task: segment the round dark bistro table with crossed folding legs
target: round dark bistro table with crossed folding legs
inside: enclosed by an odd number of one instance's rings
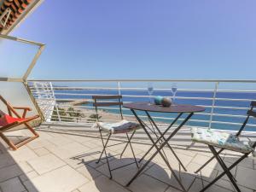
[[[156,151],[154,152],[154,154],[152,154],[152,156],[148,159],[148,161],[137,171],[137,173],[134,175],[134,177],[131,178],[131,180],[129,181],[129,183],[126,184],[126,186],[129,186],[134,181],[134,179],[136,179],[138,177],[138,175],[141,172],[143,172],[143,170],[146,168],[146,166],[148,166],[148,163],[154,159],[156,154],[160,154],[161,158],[165,161],[166,166],[169,167],[173,176],[176,178],[177,183],[179,183],[179,185],[183,189],[183,191],[186,191],[186,189],[184,189],[184,187],[183,187],[183,184],[178,179],[176,173],[173,171],[172,166],[170,165],[169,161],[166,159],[166,156],[164,155],[165,153],[163,150],[164,150],[164,147],[170,148],[172,151],[172,154],[174,154],[174,156],[178,160],[179,164],[183,167],[183,170],[186,172],[187,170],[186,170],[185,166],[183,166],[182,161],[179,160],[179,158],[177,157],[177,154],[175,154],[174,150],[172,149],[172,146],[168,142],[172,139],[172,137],[174,137],[176,135],[177,131],[179,131],[183,127],[183,125],[185,125],[185,123],[193,116],[194,113],[203,112],[203,111],[205,111],[205,108],[202,108],[199,106],[194,106],[194,105],[180,105],[180,104],[171,105],[170,107],[166,108],[166,107],[162,107],[160,105],[149,104],[148,102],[131,102],[131,103],[124,104],[123,107],[131,109],[131,112],[134,114],[137,121],[143,127],[143,130],[146,132],[148,138],[152,142],[152,146],[148,149],[147,153],[143,155],[143,158],[141,160],[139,160],[139,162],[141,162],[153,148],[156,148]],[[150,125],[147,125],[147,123],[145,123],[143,121],[143,119],[140,118],[139,115],[137,115],[136,111],[145,112],[147,114],[148,121],[149,121]],[[154,122],[154,119],[151,117],[150,112],[177,113],[177,117],[176,117],[176,119],[174,119],[172,121],[171,125],[169,125],[166,128],[166,130],[162,132],[162,131],[160,131],[160,128],[158,127],[158,125],[156,125],[156,123]],[[166,133],[172,128],[172,126],[183,115],[183,113],[188,113],[187,117],[184,118],[181,121],[181,123],[177,126],[177,128],[175,128],[172,131],[170,136],[165,137]],[[153,137],[151,136],[151,134],[149,133],[149,131],[154,133],[154,135],[156,136],[155,141],[154,141]]]

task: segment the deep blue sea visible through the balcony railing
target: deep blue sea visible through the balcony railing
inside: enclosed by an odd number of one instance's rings
[[[71,95],[61,95],[61,93],[71,94]],[[75,94],[88,94],[89,96],[77,96]],[[118,95],[118,90],[55,90],[55,97],[57,99],[91,99],[92,95]],[[149,98],[147,90],[121,90],[121,95],[123,96],[123,102],[148,102]],[[141,96],[141,97],[133,97]],[[166,90],[155,90],[153,96],[172,96],[171,91]],[[213,92],[208,91],[177,91],[177,97],[207,97],[212,98]],[[249,101],[256,100],[256,92],[217,92],[216,98],[229,98],[229,99],[245,99]],[[249,101],[215,101],[215,106],[218,107],[236,107],[236,108],[249,108]],[[191,104],[191,105],[202,105],[202,106],[212,106],[212,100],[197,100],[197,99],[182,99],[176,98],[175,103],[177,104]],[[91,107],[91,103],[84,104],[84,107]],[[119,113],[117,109],[104,109],[108,113]],[[212,108],[206,108],[204,113],[211,113]],[[124,114],[132,114],[130,110],[123,110]],[[247,109],[231,109],[231,108],[214,108],[213,113],[215,114],[230,114],[230,115],[247,115]],[[145,115],[143,112],[138,112],[139,115]],[[152,116],[158,122],[171,123],[172,119],[177,116],[176,113],[151,113]],[[182,118],[186,114],[183,114]],[[160,118],[171,118],[171,119],[160,119]],[[210,115],[195,113],[195,115],[189,120],[187,125],[209,127]],[[233,125],[233,123],[242,124],[246,117],[240,116],[218,116],[212,115],[211,128],[221,129],[221,130],[239,130],[241,125]],[[195,121],[201,120],[201,121]],[[256,131],[256,119],[249,119],[248,125],[245,129],[246,131]]]

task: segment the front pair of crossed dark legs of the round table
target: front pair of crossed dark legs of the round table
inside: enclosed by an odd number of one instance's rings
[[[168,138],[166,138],[166,141],[165,141],[164,143],[162,143],[162,144],[160,145],[160,147],[158,147],[158,146],[156,145],[156,143],[154,143],[153,138],[152,138],[152,137],[150,136],[150,134],[148,133],[148,131],[147,131],[145,125],[143,125],[142,120],[139,119],[139,117],[137,116],[137,113],[135,113],[135,111],[134,111],[133,109],[131,109],[131,112],[135,115],[135,117],[137,118],[138,122],[142,125],[143,130],[146,132],[146,134],[148,135],[149,139],[151,140],[151,142],[153,143],[153,145],[154,145],[154,147],[156,148],[157,151],[156,151],[156,152],[149,158],[149,160],[138,170],[138,172],[135,174],[134,177],[131,178],[131,180],[126,184],[126,186],[129,186],[129,185],[134,181],[134,179],[137,178],[137,176],[138,176],[141,172],[143,172],[143,170],[146,168],[146,166],[148,166],[148,163],[149,163],[151,160],[154,159],[154,157],[156,156],[156,154],[160,154],[160,156],[161,156],[162,159],[166,162],[166,165],[168,166],[168,168],[169,168],[170,171],[172,172],[172,175],[176,178],[177,183],[179,183],[179,185],[181,186],[181,188],[183,189],[183,191],[186,191],[186,189],[184,189],[184,187],[183,187],[183,184],[180,182],[180,180],[178,179],[176,173],[172,170],[172,167],[170,166],[170,164],[168,163],[168,161],[166,160],[165,156],[161,153],[160,150],[166,146],[166,143],[168,143],[168,141],[169,141],[173,136],[175,136],[175,134],[177,133],[177,131],[179,131],[179,130],[181,129],[181,127],[192,117],[192,115],[193,115],[194,113],[189,113],[188,117],[187,117],[186,119],[184,119],[183,122],[182,122],[180,125],[178,125],[178,127],[177,127],[174,131],[172,131],[172,134],[171,134]],[[165,132],[166,132],[166,131],[165,131]],[[158,140],[160,140],[160,139],[158,139]]]

